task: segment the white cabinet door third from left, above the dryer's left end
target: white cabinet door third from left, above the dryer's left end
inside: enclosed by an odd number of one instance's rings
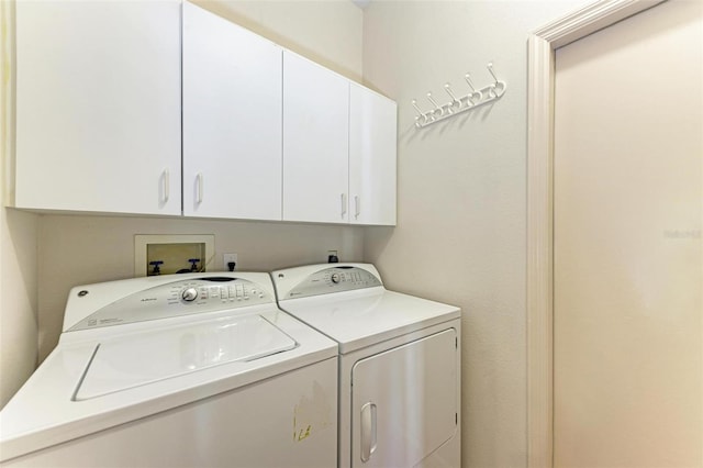
[[[283,53],[283,220],[348,221],[349,81]]]

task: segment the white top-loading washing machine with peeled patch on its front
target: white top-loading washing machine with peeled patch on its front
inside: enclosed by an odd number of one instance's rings
[[[268,274],[74,288],[54,352],[0,412],[0,461],[331,467],[337,345],[281,312]]]

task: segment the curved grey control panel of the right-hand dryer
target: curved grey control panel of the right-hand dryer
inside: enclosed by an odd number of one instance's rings
[[[380,279],[378,279],[372,272],[362,268],[345,266],[331,267],[310,275],[292,288],[287,293],[286,299],[375,288],[377,286],[383,286]]]

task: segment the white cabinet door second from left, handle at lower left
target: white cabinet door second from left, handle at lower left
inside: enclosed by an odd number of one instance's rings
[[[183,3],[183,214],[281,219],[281,53]]]

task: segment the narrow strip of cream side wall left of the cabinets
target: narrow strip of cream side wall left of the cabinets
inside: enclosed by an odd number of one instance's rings
[[[0,190],[12,174],[13,4],[0,2]],[[0,408],[34,370],[37,343],[36,242],[38,216],[0,207]]]

